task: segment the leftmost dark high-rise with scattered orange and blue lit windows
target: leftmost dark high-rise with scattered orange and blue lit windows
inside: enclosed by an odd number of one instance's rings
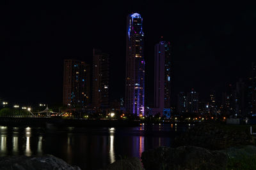
[[[90,66],[80,60],[64,60],[63,105],[86,108],[90,100]]]

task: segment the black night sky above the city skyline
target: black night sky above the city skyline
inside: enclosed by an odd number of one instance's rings
[[[0,99],[62,101],[63,59],[90,63],[110,54],[110,97],[124,96],[126,17],[138,12],[145,33],[146,103],[154,91],[154,45],[172,44],[172,95],[192,87],[207,99],[246,78],[256,56],[255,4],[192,1],[1,1]]]

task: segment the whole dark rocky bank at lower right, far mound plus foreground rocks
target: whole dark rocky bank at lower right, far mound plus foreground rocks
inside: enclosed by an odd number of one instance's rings
[[[173,148],[146,150],[139,159],[117,160],[108,170],[256,169],[256,146],[246,125],[205,123],[175,138]]]

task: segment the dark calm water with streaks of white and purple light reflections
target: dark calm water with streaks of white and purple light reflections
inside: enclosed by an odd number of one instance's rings
[[[42,129],[0,126],[0,156],[51,154],[81,169],[100,169],[120,157],[171,146],[189,126],[150,124],[125,128]]]

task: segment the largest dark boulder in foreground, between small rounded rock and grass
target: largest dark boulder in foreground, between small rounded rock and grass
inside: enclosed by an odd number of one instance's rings
[[[227,154],[196,146],[168,148],[161,146],[142,153],[146,170],[153,169],[226,169]]]

